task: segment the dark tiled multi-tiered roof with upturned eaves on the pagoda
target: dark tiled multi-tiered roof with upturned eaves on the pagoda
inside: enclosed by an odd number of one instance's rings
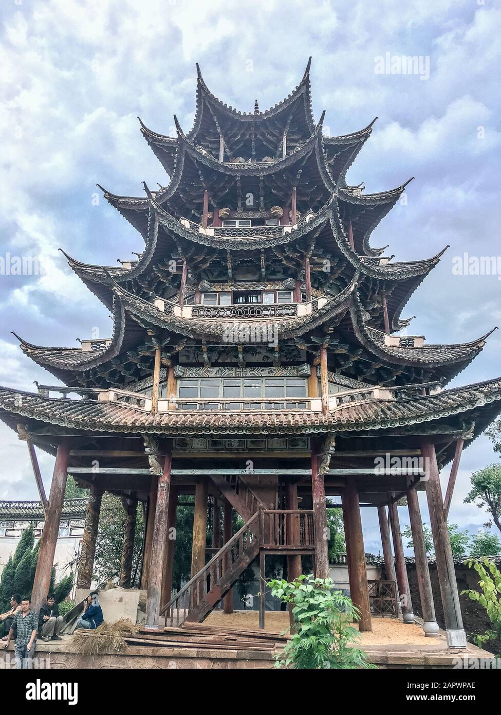
[[[197,66],[191,131],[185,134],[175,117],[174,138],[141,122],[170,181],[157,191],[145,184],[144,197],[103,190],[137,229],[144,247],[134,260],[109,267],[64,254],[111,310],[111,337],[83,341],[81,347],[42,347],[19,338],[26,355],[64,385],[83,388],[84,399],[54,400],[41,389],[39,395],[23,393],[19,401],[16,391],[0,388],[2,419],[13,426],[23,415],[68,430],[179,434],[224,433],[230,423],[252,433],[402,431],[417,423],[432,429],[455,415],[455,428],[475,423],[477,434],[499,412],[499,380],[440,391],[482,350],[487,335],[455,345],[396,335],[410,323],[402,318],[408,300],[445,249],[425,260],[397,262],[384,255],[386,247],[369,244],[408,182],[377,194],[366,194],[362,184],[347,184],[347,170],[375,120],[353,134],[325,137],[324,114],[317,123],[312,114],[309,70],[310,63],[283,102],[266,112],[256,102],[254,112],[246,114],[214,97]],[[228,216],[252,217],[260,225],[224,227],[222,217]],[[278,217],[277,225],[266,225],[272,217]],[[208,290],[270,286],[294,290],[296,300],[244,308],[193,300]],[[257,350],[240,340],[241,332],[228,330],[235,321],[263,335],[272,327],[277,344],[269,347],[263,340]],[[165,372],[179,367],[180,355],[192,365],[234,361],[244,368],[264,361],[275,368],[306,363],[314,369],[322,345],[328,350],[329,379],[345,385],[347,393],[354,391],[327,415],[314,410],[150,414],[133,400],[98,402],[92,393],[139,392],[152,376],[158,347]]]

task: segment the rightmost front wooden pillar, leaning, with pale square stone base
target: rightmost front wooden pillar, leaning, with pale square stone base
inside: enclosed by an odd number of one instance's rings
[[[444,609],[445,628],[447,631],[447,644],[455,648],[466,646],[466,633],[462,624],[460,596],[457,591],[454,559],[450,548],[449,532],[444,516],[444,503],[442,489],[440,488],[440,473],[437,464],[435,445],[423,440],[421,453],[425,460],[426,470],[426,498],[430,513],[433,544],[435,546],[435,559],[440,583],[440,595]]]

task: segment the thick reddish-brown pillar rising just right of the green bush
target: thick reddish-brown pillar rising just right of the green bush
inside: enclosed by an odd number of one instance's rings
[[[365,566],[364,534],[360,504],[353,480],[348,480],[342,493],[343,518],[348,523],[349,548],[347,548],[349,593],[354,606],[360,611],[358,629],[372,631],[370,618],[369,590],[367,588],[367,567]],[[348,541],[347,541],[348,543]]]

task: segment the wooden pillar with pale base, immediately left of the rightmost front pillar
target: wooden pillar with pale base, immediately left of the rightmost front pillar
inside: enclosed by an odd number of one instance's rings
[[[438,623],[435,617],[432,582],[425,546],[425,535],[422,529],[420,501],[415,489],[407,489],[407,506],[409,507],[410,529],[412,531],[412,546],[416,561],[417,586],[420,590],[422,629],[426,636],[438,636]]]

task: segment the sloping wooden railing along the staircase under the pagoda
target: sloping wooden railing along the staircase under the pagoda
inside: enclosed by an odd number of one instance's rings
[[[166,626],[203,620],[259,551],[259,513],[224,544],[162,611]]]

